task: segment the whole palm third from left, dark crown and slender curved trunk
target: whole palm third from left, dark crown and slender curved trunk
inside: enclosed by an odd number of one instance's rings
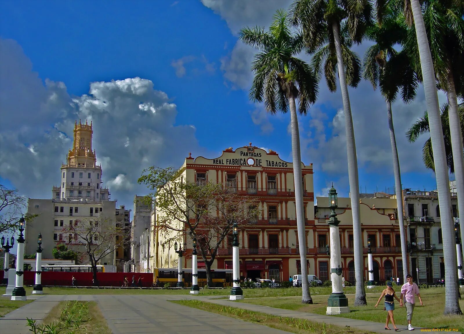
[[[406,37],[406,26],[398,20],[397,13],[385,3],[383,8],[377,8],[377,24],[369,27],[366,32],[368,39],[375,42],[364,56],[364,78],[374,87],[380,86],[382,96],[387,103],[388,129],[393,156],[393,174],[395,178],[396,203],[398,206],[398,222],[400,225],[401,258],[403,263],[403,279],[406,282],[408,274],[406,235],[404,230],[403,201],[400,196],[401,173],[400,159],[396,146],[395,130],[393,128],[392,102],[401,89],[403,101],[410,102],[416,96],[418,81],[410,60],[405,51],[398,52],[393,46],[400,44]]]

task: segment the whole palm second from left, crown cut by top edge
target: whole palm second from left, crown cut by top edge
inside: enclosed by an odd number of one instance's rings
[[[331,91],[336,90],[336,68],[342,91],[348,155],[348,179],[353,214],[354,270],[356,295],[354,305],[367,305],[364,289],[364,259],[362,255],[361,219],[359,214],[359,180],[353,118],[348,96],[348,84],[356,87],[361,80],[361,61],[349,50],[351,42],[360,43],[371,21],[370,1],[296,0],[291,5],[293,24],[303,32],[308,53],[314,53],[314,64],[324,74]]]

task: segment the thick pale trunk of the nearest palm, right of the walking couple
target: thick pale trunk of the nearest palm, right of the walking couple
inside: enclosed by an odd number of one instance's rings
[[[451,217],[450,182],[445,156],[445,142],[438,105],[435,71],[430,53],[424,18],[419,0],[411,0],[412,17],[419,47],[420,65],[424,80],[425,102],[429,116],[430,137],[432,139],[433,162],[437,179],[438,202],[440,205],[441,230],[443,235],[443,256],[445,257],[445,310],[444,314],[462,314],[458,302],[458,275],[454,224]]]

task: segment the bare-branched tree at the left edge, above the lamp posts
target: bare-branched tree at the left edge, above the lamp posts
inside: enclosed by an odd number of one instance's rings
[[[26,209],[27,198],[19,195],[18,189],[9,189],[0,184],[0,233],[18,229],[18,221]],[[26,214],[28,222],[37,215]]]

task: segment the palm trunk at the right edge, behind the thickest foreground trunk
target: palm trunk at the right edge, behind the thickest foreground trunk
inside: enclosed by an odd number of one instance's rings
[[[458,98],[454,85],[453,71],[448,71],[448,119],[450,122],[451,148],[453,152],[454,176],[456,178],[456,189],[458,191],[458,211],[459,217],[464,217],[464,157],[463,157],[463,136],[461,133],[461,122],[458,113]],[[464,240],[463,221],[459,220],[461,230],[461,240]]]

